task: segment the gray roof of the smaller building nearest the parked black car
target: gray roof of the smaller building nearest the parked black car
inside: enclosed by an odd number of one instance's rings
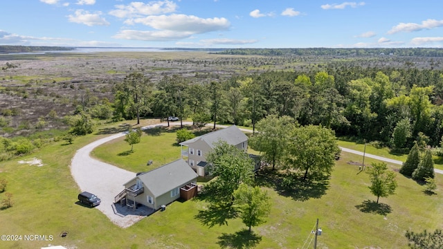
[[[161,196],[176,187],[183,187],[197,176],[185,160],[179,159],[137,177],[154,196]]]

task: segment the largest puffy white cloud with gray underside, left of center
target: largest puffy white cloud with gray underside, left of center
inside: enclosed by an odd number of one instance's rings
[[[159,15],[131,19],[130,22],[144,24],[156,30],[171,30],[192,34],[208,33],[216,30],[226,30],[230,23],[221,17],[200,18],[193,15]]]

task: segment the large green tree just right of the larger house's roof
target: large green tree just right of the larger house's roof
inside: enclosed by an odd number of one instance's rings
[[[258,132],[251,137],[249,145],[262,153],[262,158],[271,163],[272,169],[284,158],[294,124],[295,121],[288,116],[278,118],[273,115],[257,122]]]

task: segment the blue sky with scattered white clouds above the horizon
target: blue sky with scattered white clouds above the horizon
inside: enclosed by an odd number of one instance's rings
[[[442,0],[8,0],[0,44],[443,48]]]

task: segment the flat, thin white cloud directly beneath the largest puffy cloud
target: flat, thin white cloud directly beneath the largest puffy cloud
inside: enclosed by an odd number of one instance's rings
[[[192,33],[190,32],[175,32],[171,30],[159,30],[159,31],[121,30],[116,35],[114,35],[114,38],[162,42],[174,39],[188,38],[191,35]]]

